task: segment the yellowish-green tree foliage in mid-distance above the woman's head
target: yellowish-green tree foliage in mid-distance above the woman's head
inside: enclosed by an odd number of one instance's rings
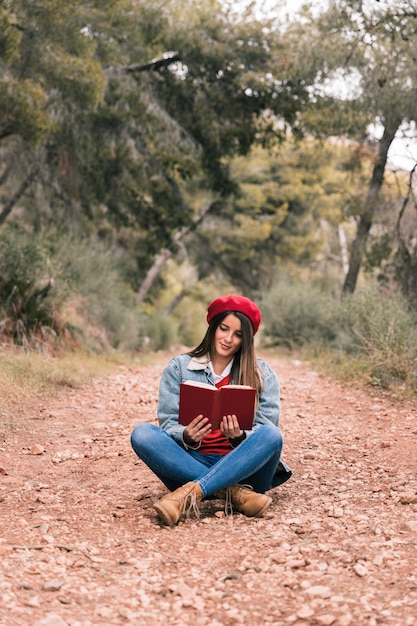
[[[350,233],[343,209],[353,194],[364,193],[361,173],[345,170],[350,154],[342,142],[309,139],[233,159],[241,191],[196,233],[200,275],[215,267],[239,289],[256,293],[273,284],[277,267],[294,264],[300,276],[305,269],[342,282],[338,226]]]

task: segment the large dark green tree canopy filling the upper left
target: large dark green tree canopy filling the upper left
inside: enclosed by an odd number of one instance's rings
[[[204,209],[186,184],[229,196],[228,159],[269,130],[264,112],[291,124],[307,99],[252,18],[215,1],[5,2],[0,221],[31,184],[34,228],[116,237],[139,288]]]

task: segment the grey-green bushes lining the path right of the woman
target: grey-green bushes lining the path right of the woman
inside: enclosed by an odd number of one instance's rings
[[[417,393],[417,318],[399,294],[363,288],[340,298],[281,281],[261,308],[265,345],[307,346],[324,352],[329,369],[349,368],[348,378],[360,372],[373,385]]]

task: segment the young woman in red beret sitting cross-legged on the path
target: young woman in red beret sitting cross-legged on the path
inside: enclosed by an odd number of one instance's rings
[[[279,382],[262,359],[253,337],[261,322],[258,306],[243,296],[217,298],[208,307],[208,329],[187,354],[174,357],[160,381],[158,420],[139,424],[131,436],[134,451],[170,490],[154,505],[169,526],[198,502],[216,497],[225,508],[259,517],[271,504],[265,494],[291,476],[280,461],[282,436]],[[180,383],[186,380],[221,387],[233,383],[257,389],[251,430],[241,430],[236,415],[225,415],[212,430],[207,417],[192,416],[188,426],[178,423]]]

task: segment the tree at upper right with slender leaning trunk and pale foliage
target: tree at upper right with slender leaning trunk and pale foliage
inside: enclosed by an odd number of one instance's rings
[[[304,116],[306,127],[324,136],[345,134],[373,153],[366,196],[352,212],[357,231],[343,287],[351,293],[375,214],[383,205],[389,149],[394,138],[417,120],[417,4],[334,0],[318,18],[304,15],[290,31],[295,28],[302,31],[303,41],[311,43],[316,63],[321,63],[313,95],[317,106]],[[377,132],[371,134],[371,127]],[[405,260],[403,255],[401,263]],[[403,287],[407,291],[410,281]],[[417,297],[417,281],[412,290]]]

